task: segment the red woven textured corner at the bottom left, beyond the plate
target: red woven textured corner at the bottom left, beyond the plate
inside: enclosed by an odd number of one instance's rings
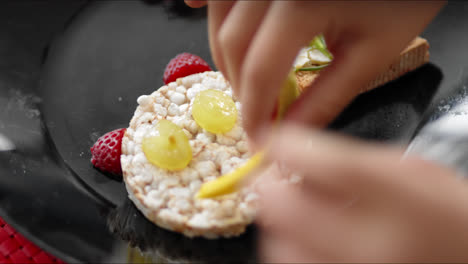
[[[0,218],[0,263],[64,263],[43,251]]]

